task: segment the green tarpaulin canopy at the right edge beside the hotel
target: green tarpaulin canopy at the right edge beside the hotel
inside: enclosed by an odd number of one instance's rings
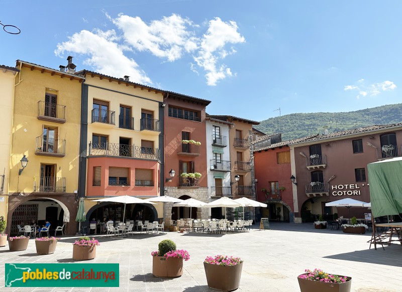
[[[373,217],[402,213],[402,158],[367,165]]]

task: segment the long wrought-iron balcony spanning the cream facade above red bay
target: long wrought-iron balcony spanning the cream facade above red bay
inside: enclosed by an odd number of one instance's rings
[[[88,156],[120,156],[160,161],[160,150],[118,143],[89,143]]]

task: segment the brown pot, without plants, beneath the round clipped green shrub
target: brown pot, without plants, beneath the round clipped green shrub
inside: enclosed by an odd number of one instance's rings
[[[159,278],[177,278],[183,274],[183,259],[177,257],[152,257],[152,274]]]

